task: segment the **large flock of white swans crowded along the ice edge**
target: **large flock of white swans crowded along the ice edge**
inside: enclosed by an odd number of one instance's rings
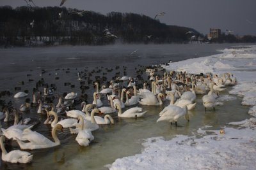
[[[159,114],[156,122],[167,121],[175,123],[179,118],[184,117],[189,121],[188,110],[196,107],[196,96],[202,95],[202,103],[205,111],[216,106],[216,98],[226,89],[226,86],[236,85],[236,77],[231,73],[217,74],[189,74],[182,72],[162,71],[163,75],[157,69],[147,69],[148,80],[143,84],[143,88],[138,89],[136,79],[128,76],[118,77],[110,81],[110,85],[102,86],[99,90],[99,83],[95,82],[95,92],[93,92],[92,103],[81,103],[82,109],[70,107],[74,103],[78,94],[70,92],[66,96],[60,96],[58,103],[46,103],[41,97],[33,93],[33,101],[16,108],[4,108],[1,119],[4,122],[14,121],[13,125],[7,129],[1,128],[0,144],[2,150],[2,160],[12,163],[28,163],[33,159],[29,152],[13,150],[6,152],[4,148],[4,139],[12,139],[17,142],[22,150],[36,150],[42,148],[51,148],[61,144],[56,135],[56,131],[68,129],[70,134],[77,134],[76,141],[81,146],[88,146],[93,141],[93,131],[99,129],[99,125],[114,124],[113,116],[121,118],[140,118],[147,114],[140,105],[163,106],[166,100],[170,104],[166,106]],[[81,81],[81,76],[78,81]],[[150,84],[148,83],[150,82]],[[121,85],[127,83],[127,87]],[[44,89],[44,95],[48,96],[49,90]],[[18,92],[13,97],[26,97],[26,92]],[[125,99],[124,99],[125,97]],[[102,102],[104,100],[104,102]],[[108,106],[104,103],[109,103]],[[40,122],[29,123],[29,120],[19,122],[19,111],[29,110],[33,104],[38,107],[38,114],[45,114],[47,118],[45,125],[51,126],[52,139],[46,138],[39,132],[33,131],[33,127]],[[129,108],[128,108],[129,107]],[[12,113],[10,113],[12,112]],[[14,118],[10,118],[10,115]],[[53,119],[51,118],[53,117]]]

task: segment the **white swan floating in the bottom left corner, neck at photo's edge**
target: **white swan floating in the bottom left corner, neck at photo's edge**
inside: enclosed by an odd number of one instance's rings
[[[21,150],[12,150],[11,152],[7,152],[4,148],[4,136],[0,137],[0,145],[2,150],[2,160],[4,162],[11,163],[22,163],[26,164],[32,161],[33,155],[29,152],[21,151]]]

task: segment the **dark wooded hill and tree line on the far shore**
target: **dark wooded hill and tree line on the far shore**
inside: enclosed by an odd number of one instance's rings
[[[102,15],[65,7],[0,7],[1,46],[188,43],[199,37],[207,41],[194,29],[166,25],[135,13]],[[238,40],[231,37],[228,41]],[[255,42],[255,37],[244,37],[243,41]]]

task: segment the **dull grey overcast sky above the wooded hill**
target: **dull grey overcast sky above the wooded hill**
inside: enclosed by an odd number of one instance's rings
[[[29,1],[29,0],[27,0]],[[59,6],[61,0],[33,0],[36,6]],[[0,0],[0,6],[24,6],[24,0]],[[210,27],[227,29],[233,34],[256,36],[256,0],[67,0],[66,8],[89,10],[106,15],[111,11],[138,13],[154,18],[159,12],[160,22],[191,27],[203,34]]]

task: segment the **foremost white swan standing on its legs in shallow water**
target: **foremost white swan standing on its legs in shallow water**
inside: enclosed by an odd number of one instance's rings
[[[169,106],[168,109],[163,111],[160,117],[157,119],[156,122],[161,121],[168,121],[168,122],[175,122],[175,126],[177,127],[177,121],[180,117],[185,117],[186,120],[189,121],[188,109],[187,106],[180,108],[179,106]]]

